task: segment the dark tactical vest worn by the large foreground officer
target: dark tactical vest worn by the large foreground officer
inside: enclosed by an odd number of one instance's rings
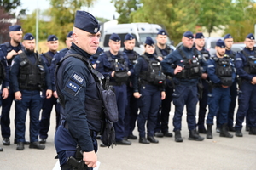
[[[84,105],[85,105],[86,116],[89,119],[102,120],[102,117],[103,117],[102,79],[104,79],[104,77],[101,73],[99,73],[95,69],[92,69],[92,66],[90,65],[90,61],[88,59],[82,57],[79,54],[67,54],[67,56],[65,56],[65,58],[61,59],[61,61],[57,64],[56,71],[55,71],[55,77],[58,77],[57,74],[58,74],[59,68],[60,68],[61,64],[63,63],[63,61],[71,56],[82,60],[84,62],[84,64],[87,65],[87,67],[91,73],[90,77],[93,79],[93,81],[96,82],[96,86],[97,86],[96,93],[97,93],[98,99],[91,99],[91,98],[85,99]],[[61,75],[61,77],[62,77],[62,75]],[[64,95],[61,93],[60,84],[57,82],[56,79],[55,79],[55,86],[56,86],[56,91],[58,94],[60,104],[65,109],[65,98],[64,98]],[[63,116],[64,118],[66,117],[65,115],[61,115],[61,116]]]

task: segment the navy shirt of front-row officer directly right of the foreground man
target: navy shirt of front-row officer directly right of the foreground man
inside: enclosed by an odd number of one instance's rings
[[[110,51],[109,51],[110,53]],[[120,52],[117,55],[111,54],[111,58],[113,60],[120,58]],[[133,65],[131,65],[127,55],[125,53],[122,53],[123,58],[125,59],[126,63],[126,70],[131,72],[131,75],[133,74]],[[113,62],[113,61],[112,61]],[[110,77],[110,81],[114,81],[114,78],[111,77],[112,71],[114,71],[112,63],[108,60],[108,56],[105,53],[102,53],[99,58],[96,61],[96,70],[101,72],[104,77]]]

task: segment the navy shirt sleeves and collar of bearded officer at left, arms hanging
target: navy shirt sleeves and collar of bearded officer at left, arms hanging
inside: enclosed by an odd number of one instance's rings
[[[26,53],[26,51],[25,51]],[[30,60],[30,62],[34,65],[36,62],[36,58],[35,58],[35,54],[27,54],[26,53],[27,58]],[[20,55],[16,55],[15,59],[12,62],[11,65],[11,71],[10,71],[10,82],[12,85],[12,88],[14,90],[14,92],[20,91],[19,88],[19,81],[18,81],[18,77],[19,77],[19,71],[20,71]],[[50,84],[50,78],[49,78],[49,73],[47,71],[47,66],[44,63],[44,60],[42,59],[42,65],[44,66],[44,70],[45,70],[45,84],[46,84],[46,89],[50,89],[51,90],[51,84]]]

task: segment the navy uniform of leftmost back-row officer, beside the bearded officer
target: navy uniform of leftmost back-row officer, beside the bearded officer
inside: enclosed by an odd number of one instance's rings
[[[11,51],[11,50],[15,50],[15,52],[19,52],[20,50],[23,50],[24,47],[21,45],[21,43],[17,46],[17,47],[12,47],[9,43],[9,47],[6,46],[6,44],[1,44],[0,45],[0,59],[3,60],[4,58],[6,58],[7,54]],[[10,84],[10,80],[9,80],[9,68],[10,65],[12,63],[12,59],[8,60],[8,66],[6,68],[6,73],[7,73],[7,79],[5,82],[5,85],[2,86],[2,90],[3,88],[8,87]],[[13,88],[10,86],[9,87],[9,95],[7,99],[3,99],[2,101],[2,115],[1,115],[1,131],[2,131],[2,137],[3,138],[9,138],[10,137],[10,120],[9,120],[9,111],[10,108],[12,106],[13,100],[15,99],[15,94],[13,91]],[[16,120],[15,120],[15,124],[16,124]]]

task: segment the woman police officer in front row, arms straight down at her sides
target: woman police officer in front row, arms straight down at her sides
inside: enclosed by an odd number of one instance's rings
[[[139,143],[157,144],[159,141],[154,139],[154,129],[157,123],[157,114],[160,108],[161,99],[165,99],[166,77],[161,73],[160,60],[154,55],[154,41],[147,37],[145,41],[145,53],[137,59],[134,68],[133,90],[134,97],[139,99],[140,113],[137,117],[137,127],[139,131]],[[154,62],[153,62],[154,61]],[[156,66],[158,70],[152,70]],[[155,67],[154,67],[155,68]],[[154,72],[153,72],[154,71]],[[157,80],[156,77],[164,76]],[[147,139],[145,125],[147,121]]]

